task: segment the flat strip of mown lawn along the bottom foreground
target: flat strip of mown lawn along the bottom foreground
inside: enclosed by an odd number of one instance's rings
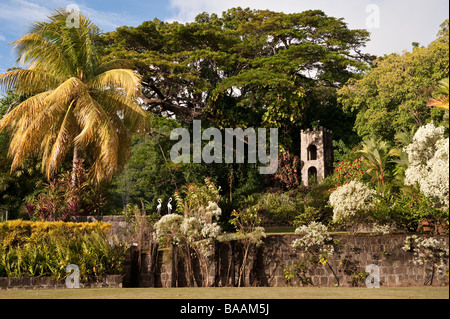
[[[448,287],[80,288],[0,290],[0,299],[449,299]]]

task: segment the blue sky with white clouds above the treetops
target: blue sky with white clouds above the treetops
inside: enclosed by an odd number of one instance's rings
[[[428,45],[449,16],[448,0],[0,0],[0,73],[15,65],[10,42],[54,9],[73,4],[104,32],[154,18],[185,23],[202,12],[221,15],[238,6],[284,13],[320,9],[344,18],[351,29],[367,29],[371,40],[363,51],[378,56],[411,50],[412,42]]]

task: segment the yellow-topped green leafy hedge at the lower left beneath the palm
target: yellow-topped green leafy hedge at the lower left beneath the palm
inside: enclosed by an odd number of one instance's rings
[[[84,282],[123,270],[126,247],[108,237],[106,223],[31,222],[0,226],[0,277],[50,276],[61,280],[69,264]]]

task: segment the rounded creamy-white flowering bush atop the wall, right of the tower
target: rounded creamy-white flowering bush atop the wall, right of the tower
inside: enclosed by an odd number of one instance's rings
[[[333,221],[348,220],[357,213],[370,211],[375,203],[376,192],[359,181],[350,181],[339,186],[328,200],[333,207]]]

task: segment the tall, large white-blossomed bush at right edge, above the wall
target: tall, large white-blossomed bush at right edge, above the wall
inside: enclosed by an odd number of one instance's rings
[[[443,126],[432,123],[420,127],[405,148],[409,166],[405,184],[418,185],[420,192],[435,204],[449,208],[449,139]]]

